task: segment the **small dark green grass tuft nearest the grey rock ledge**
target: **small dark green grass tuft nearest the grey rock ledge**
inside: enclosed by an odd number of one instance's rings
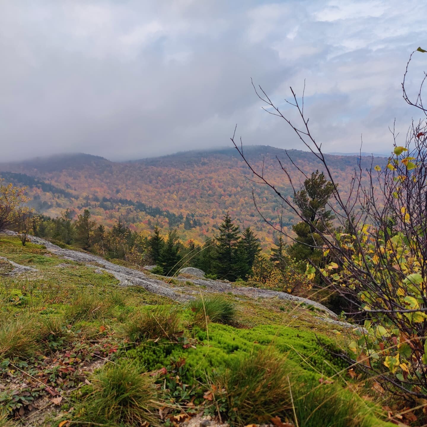
[[[198,298],[190,301],[188,307],[196,314],[197,320],[202,320],[202,323],[206,317],[211,322],[229,325],[236,317],[234,304],[231,301],[227,301],[222,295]],[[200,322],[197,323],[199,324]]]

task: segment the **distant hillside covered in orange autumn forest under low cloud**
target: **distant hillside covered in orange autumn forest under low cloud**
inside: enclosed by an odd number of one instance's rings
[[[285,168],[290,159],[285,150],[270,146],[250,146],[246,155],[280,192],[292,196],[292,189],[278,159]],[[288,151],[290,158],[305,173],[322,165],[315,156],[299,150]],[[277,158],[276,158],[277,156]],[[326,155],[333,178],[345,194],[351,183],[356,156]],[[362,157],[362,167],[385,164],[385,158]],[[272,191],[255,183],[235,149],[181,152],[132,162],[112,162],[99,156],[69,154],[0,164],[0,177],[15,185],[28,186],[32,206],[40,213],[57,217],[70,209],[76,217],[85,209],[92,218],[107,226],[121,219],[136,231],[152,230],[156,224],[166,233],[177,228],[183,240],[202,243],[204,236],[216,232],[228,210],[243,228],[257,231],[264,248],[273,243],[273,231],[263,226],[254,207],[252,188],[268,219],[278,223],[280,205]],[[295,182],[299,187],[298,181]],[[295,222],[284,212],[286,228]]]

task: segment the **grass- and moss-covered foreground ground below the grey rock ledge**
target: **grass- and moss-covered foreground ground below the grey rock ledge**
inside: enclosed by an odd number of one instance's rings
[[[178,305],[141,287],[119,287],[96,267],[66,261],[58,268],[64,260],[45,253],[0,237],[0,256],[38,270],[0,276],[0,377],[29,383],[20,367],[63,395],[78,387],[63,420],[158,424],[167,421],[158,419],[158,404],[167,402],[168,416],[202,408],[236,425],[273,415],[294,422],[294,409],[300,427],[319,420],[325,427],[383,425],[376,407],[346,389],[340,377],[347,366],[328,351],[339,352],[351,331],[336,335],[318,313],[233,295]],[[83,371],[94,360],[110,362],[88,377]],[[90,384],[79,388],[85,379]],[[46,395],[41,389],[35,381],[23,390]],[[204,398],[209,392],[213,401]],[[3,421],[0,427],[9,425]]]

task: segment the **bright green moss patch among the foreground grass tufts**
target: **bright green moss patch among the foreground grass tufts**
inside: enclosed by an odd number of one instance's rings
[[[201,379],[205,372],[217,369],[226,360],[249,354],[254,348],[271,345],[280,353],[287,354],[289,363],[300,366],[304,371],[317,375],[333,376],[345,364],[333,358],[328,347],[334,347],[332,340],[310,332],[299,332],[284,326],[262,325],[253,329],[237,329],[228,325],[210,324],[208,332],[194,330],[196,338],[202,342],[196,348],[183,349],[174,345],[140,345],[127,352],[146,365],[148,370],[167,366],[171,359],[183,358],[191,367],[193,378]],[[339,349],[335,348],[336,351]]]

